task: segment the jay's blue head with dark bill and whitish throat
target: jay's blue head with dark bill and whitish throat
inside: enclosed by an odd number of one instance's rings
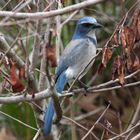
[[[78,20],[77,26],[73,35],[73,39],[80,39],[86,36],[95,37],[95,30],[103,27],[93,17],[83,17]]]

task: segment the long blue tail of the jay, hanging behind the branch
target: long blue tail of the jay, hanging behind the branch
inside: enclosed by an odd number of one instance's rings
[[[65,75],[65,72],[63,72],[58,77],[57,82],[55,84],[56,91],[58,93],[62,93],[67,82],[68,79]],[[44,117],[44,135],[46,136],[49,135],[51,132],[54,114],[55,114],[55,109],[53,105],[53,100],[50,99],[48,103],[48,107],[45,109],[45,117]]]

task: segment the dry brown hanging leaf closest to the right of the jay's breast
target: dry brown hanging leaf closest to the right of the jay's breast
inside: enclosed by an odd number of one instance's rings
[[[103,55],[102,55],[102,64],[104,67],[106,67],[107,63],[112,57],[112,49],[108,47],[104,47],[103,50]]]

